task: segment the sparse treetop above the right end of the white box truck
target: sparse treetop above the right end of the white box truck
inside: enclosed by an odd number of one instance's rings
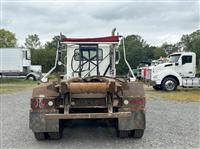
[[[39,36],[37,34],[28,35],[28,37],[25,39],[25,46],[28,49],[40,49],[41,43]]]

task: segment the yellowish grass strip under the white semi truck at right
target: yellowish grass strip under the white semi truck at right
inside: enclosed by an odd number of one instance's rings
[[[200,88],[178,88],[173,92],[155,91],[152,87],[145,86],[147,99],[165,99],[184,102],[200,101]]]

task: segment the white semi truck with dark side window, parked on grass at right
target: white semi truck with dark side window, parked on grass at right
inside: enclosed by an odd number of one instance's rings
[[[196,54],[173,53],[169,55],[168,62],[148,67],[145,79],[155,90],[174,91],[177,86],[200,87],[200,77],[196,75]]]

